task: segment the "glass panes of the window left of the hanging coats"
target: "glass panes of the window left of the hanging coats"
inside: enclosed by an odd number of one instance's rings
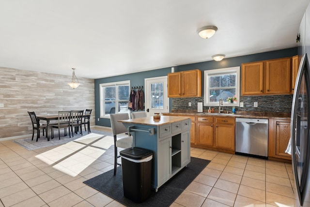
[[[129,85],[114,85],[104,87],[105,115],[128,113]]]

